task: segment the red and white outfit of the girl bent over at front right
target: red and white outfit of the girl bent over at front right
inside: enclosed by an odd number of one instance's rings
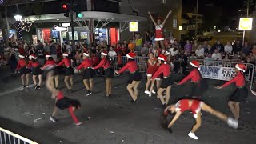
[[[190,101],[192,102],[191,106],[189,103]],[[175,107],[176,107],[176,111],[181,111],[182,113],[186,110],[190,110],[195,117],[195,114],[197,114],[201,110],[201,105],[202,105],[202,102],[198,100],[182,99],[176,103]]]

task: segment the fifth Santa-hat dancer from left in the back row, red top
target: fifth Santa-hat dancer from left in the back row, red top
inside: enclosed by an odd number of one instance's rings
[[[86,96],[92,94],[94,82],[93,78],[95,77],[95,71],[93,69],[93,62],[90,60],[90,55],[87,53],[82,54],[84,61],[78,66],[77,70],[84,69],[83,73],[83,84],[86,86]]]

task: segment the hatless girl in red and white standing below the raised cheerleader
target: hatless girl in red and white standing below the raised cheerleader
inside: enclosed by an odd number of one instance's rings
[[[145,94],[149,94],[149,96],[151,97],[151,94],[155,94],[156,92],[154,91],[154,79],[152,78],[152,75],[158,70],[158,66],[160,66],[158,64],[158,59],[154,58],[154,55],[152,53],[148,54],[149,55],[149,59],[147,60],[147,70],[146,70],[146,88],[145,88]],[[151,83],[151,86],[150,86]],[[150,91],[148,90],[150,86]]]

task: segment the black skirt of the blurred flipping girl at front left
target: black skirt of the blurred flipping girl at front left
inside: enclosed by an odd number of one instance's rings
[[[69,108],[70,106],[73,106],[75,107],[76,109],[80,108],[81,107],[81,103],[76,100],[76,99],[70,99],[70,98],[62,98],[62,99],[59,99],[57,102],[56,102],[56,106],[61,109],[61,110],[64,110],[64,109],[67,109]]]

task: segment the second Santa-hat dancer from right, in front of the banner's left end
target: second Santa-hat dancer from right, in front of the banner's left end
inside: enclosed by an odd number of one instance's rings
[[[190,93],[190,97],[192,98],[200,98],[202,94],[207,90],[208,85],[204,78],[202,78],[202,74],[200,74],[199,70],[199,62],[193,60],[190,62],[190,65],[194,67],[190,74],[182,79],[181,82],[178,82],[178,86],[184,84],[186,81],[191,79],[192,83],[192,92]]]

